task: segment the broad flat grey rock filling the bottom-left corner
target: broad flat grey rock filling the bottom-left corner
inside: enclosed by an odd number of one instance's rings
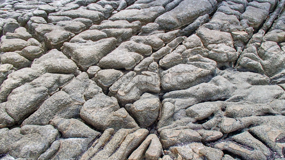
[[[1,153],[9,152],[13,157],[36,159],[52,142],[59,132],[51,125],[26,125],[21,128],[1,129]]]

